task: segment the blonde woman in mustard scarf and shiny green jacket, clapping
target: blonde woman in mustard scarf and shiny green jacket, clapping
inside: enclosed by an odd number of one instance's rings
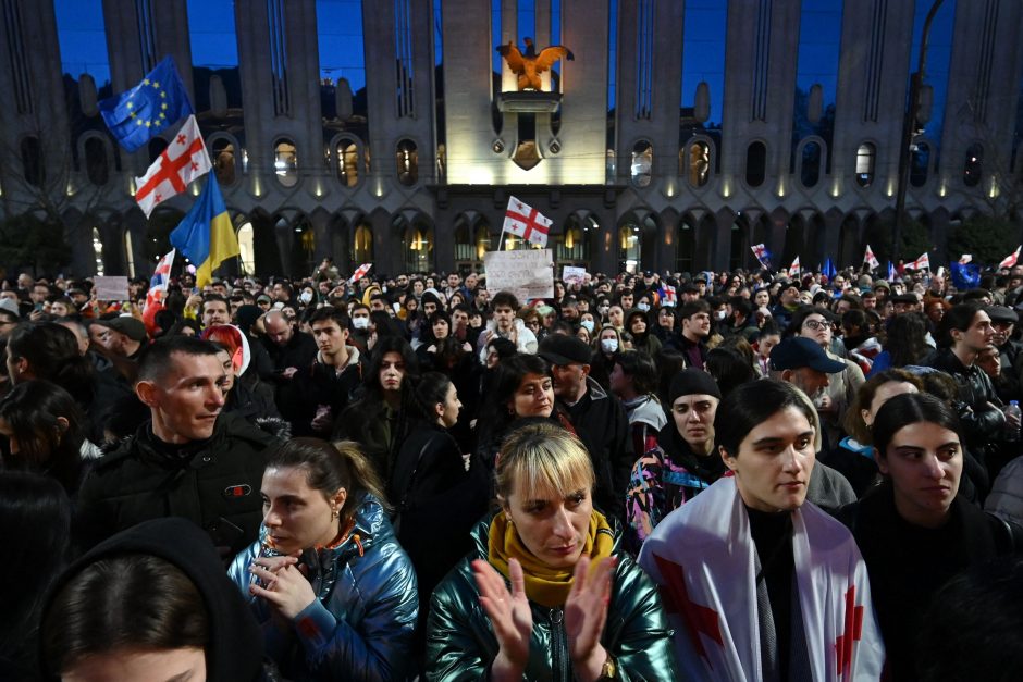
[[[579,441],[523,420],[495,476],[502,509],[433,593],[427,678],[678,679],[661,598],[593,509]]]

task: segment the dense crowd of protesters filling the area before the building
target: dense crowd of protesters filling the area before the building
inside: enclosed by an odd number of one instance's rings
[[[1023,266],[147,288],[0,290],[2,680],[1023,670]]]

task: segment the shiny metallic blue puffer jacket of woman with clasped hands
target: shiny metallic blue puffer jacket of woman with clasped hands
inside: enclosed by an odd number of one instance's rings
[[[227,571],[246,596],[248,567],[261,553],[274,554],[254,543]],[[405,680],[419,610],[416,572],[380,501],[368,495],[346,538],[332,548],[306,550],[301,561],[317,598],[298,613],[287,636],[271,622],[268,605],[249,597],[267,653],[282,673],[296,681]]]

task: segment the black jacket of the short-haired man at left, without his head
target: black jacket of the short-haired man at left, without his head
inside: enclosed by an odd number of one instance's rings
[[[160,442],[146,422],[93,467],[75,531],[89,547],[149,519],[182,517],[237,551],[257,536],[266,455],[278,443],[239,414],[222,413],[213,435],[180,447]]]

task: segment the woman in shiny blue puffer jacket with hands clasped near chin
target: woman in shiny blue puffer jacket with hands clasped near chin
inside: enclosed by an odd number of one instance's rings
[[[406,680],[416,574],[358,446],[295,438],[263,474],[259,542],[231,579],[289,680]]]

